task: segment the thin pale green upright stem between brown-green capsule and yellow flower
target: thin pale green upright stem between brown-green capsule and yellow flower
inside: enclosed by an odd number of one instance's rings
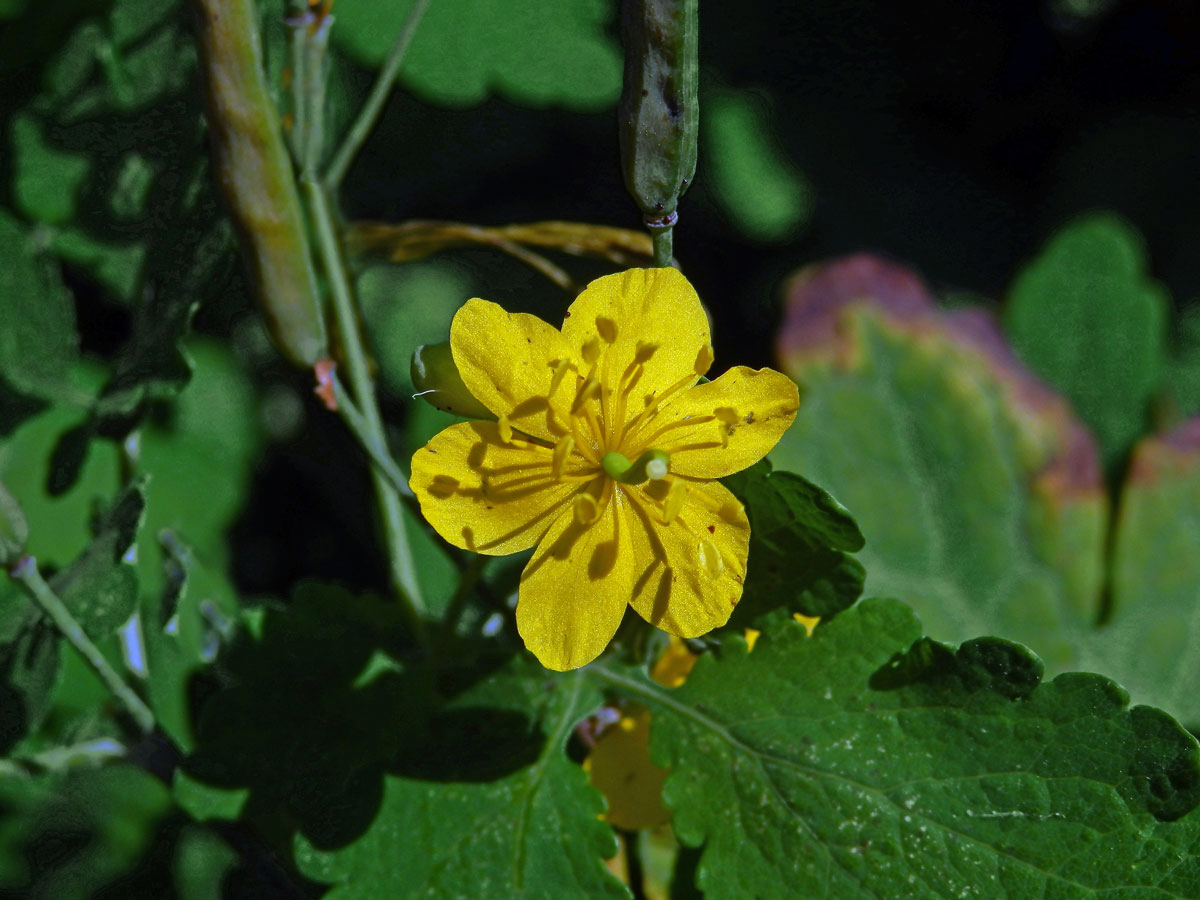
[[[362,347],[362,340],[359,335],[354,298],[350,294],[349,280],[346,276],[346,266],[342,263],[341,246],[334,232],[334,215],[330,209],[329,197],[319,184],[310,179],[301,179],[300,186],[307,200],[308,211],[312,215],[317,248],[334,300],[334,313],[337,317],[338,330],[342,335],[342,347],[346,354],[350,390],[354,392],[354,400],[358,403],[359,410],[361,410],[361,427],[370,439],[365,445],[368,448],[383,448],[386,445],[383,419],[379,415],[379,406],[376,401],[371,370],[367,367],[366,350]],[[383,514],[392,584],[400,595],[401,606],[409,620],[409,625],[413,628],[414,635],[424,643],[425,628],[421,620],[424,604],[421,601],[420,584],[416,581],[413,551],[408,546],[408,538],[404,534],[404,512],[401,506],[400,494],[378,468],[372,467],[371,479],[374,482],[379,510]]]

